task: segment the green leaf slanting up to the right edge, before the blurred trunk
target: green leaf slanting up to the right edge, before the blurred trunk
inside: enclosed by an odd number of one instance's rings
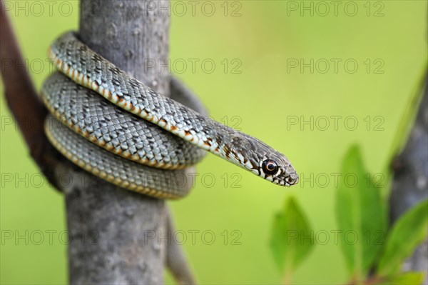
[[[394,224],[377,266],[379,276],[399,271],[400,265],[428,234],[428,199],[414,206]]]

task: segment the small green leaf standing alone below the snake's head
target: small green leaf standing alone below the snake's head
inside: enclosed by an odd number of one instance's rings
[[[290,197],[275,216],[270,240],[270,249],[280,271],[290,274],[310,253],[313,244],[314,234],[305,214]]]

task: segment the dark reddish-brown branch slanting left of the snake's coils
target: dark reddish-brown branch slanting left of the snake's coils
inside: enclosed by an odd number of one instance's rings
[[[49,144],[44,134],[47,114],[27,72],[9,17],[0,1],[0,58],[1,78],[4,82],[6,103],[29,146],[30,154],[52,184],[53,170],[61,156]]]

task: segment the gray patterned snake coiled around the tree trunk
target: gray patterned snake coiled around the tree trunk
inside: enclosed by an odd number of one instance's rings
[[[75,31],[59,36],[48,54],[57,71],[40,92],[49,110],[46,136],[91,174],[141,194],[178,199],[192,188],[193,166],[209,152],[273,184],[297,184],[285,155],[211,119],[173,76],[171,96],[158,94]]]

